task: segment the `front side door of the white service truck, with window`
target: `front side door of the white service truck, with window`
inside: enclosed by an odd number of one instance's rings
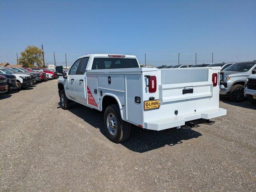
[[[67,83],[68,86],[65,86],[65,92],[68,98],[72,100],[76,100],[75,97],[75,82],[77,81],[77,69],[79,67],[79,62],[81,59],[78,59],[75,61],[75,63],[72,65],[72,67],[69,70],[68,76],[67,76]]]

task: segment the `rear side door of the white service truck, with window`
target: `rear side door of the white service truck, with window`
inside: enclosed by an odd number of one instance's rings
[[[90,57],[81,59],[75,79],[75,98],[79,102],[86,103],[86,75],[85,70]]]

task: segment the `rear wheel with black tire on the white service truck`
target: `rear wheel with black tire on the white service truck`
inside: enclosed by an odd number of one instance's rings
[[[114,131],[110,131],[112,127],[112,120],[109,121],[108,117],[111,118],[111,115],[113,114],[113,119],[115,124],[115,128],[113,129]],[[110,128],[109,125],[111,124]],[[117,125],[117,127],[116,127]],[[122,120],[119,106],[118,105],[110,105],[106,108],[105,113],[104,113],[104,126],[105,126],[105,131],[107,133],[107,136],[109,140],[115,142],[115,143],[120,143],[122,141],[125,141],[128,139],[130,132],[131,132],[131,124]]]

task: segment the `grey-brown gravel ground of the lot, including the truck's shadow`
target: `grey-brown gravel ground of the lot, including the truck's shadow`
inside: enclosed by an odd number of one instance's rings
[[[0,97],[0,191],[256,191],[256,106],[212,126],[106,138],[103,114],[59,106],[57,80]]]

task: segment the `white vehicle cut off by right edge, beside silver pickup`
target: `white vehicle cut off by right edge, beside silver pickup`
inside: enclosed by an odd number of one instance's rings
[[[256,105],[256,74],[248,76],[244,87],[244,97]]]

